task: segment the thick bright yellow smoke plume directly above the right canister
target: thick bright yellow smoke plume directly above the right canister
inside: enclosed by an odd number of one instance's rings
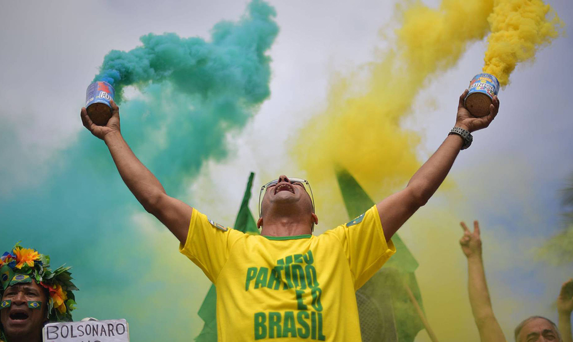
[[[504,86],[517,63],[533,59],[537,49],[559,36],[563,22],[541,0],[497,0],[488,18],[484,72]]]

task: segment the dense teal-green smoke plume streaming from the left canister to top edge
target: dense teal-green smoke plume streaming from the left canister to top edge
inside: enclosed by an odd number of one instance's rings
[[[178,91],[202,96],[215,107],[228,106],[227,111],[260,103],[269,96],[270,57],[265,52],[278,26],[272,20],[273,7],[261,0],[251,2],[247,11],[237,23],[215,25],[210,42],[175,33],[147,34],[140,38],[142,46],[109,52],[94,80],[111,83],[118,99],[127,85],[169,81]]]

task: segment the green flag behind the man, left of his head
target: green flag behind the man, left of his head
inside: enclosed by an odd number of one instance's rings
[[[251,188],[253,186],[254,173],[251,172],[249,175],[249,181],[247,182],[247,188],[245,189],[245,195],[243,196],[243,201],[241,207],[239,208],[239,213],[237,214],[237,219],[235,220],[234,228],[238,231],[245,232],[246,234],[258,235],[257,223],[254,220],[253,214],[249,210],[249,200],[251,196]],[[215,292],[215,286],[211,285],[201,308],[199,308],[199,317],[205,322],[203,329],[199,336],[195,337],[197,342],[217,342],[217,293]]]

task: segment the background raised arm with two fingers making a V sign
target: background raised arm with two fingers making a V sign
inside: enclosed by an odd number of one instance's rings
[[[492,301],[489,298],[488,283],[485,281],[484,262],[481,258],[480,226],[473,221],[473,232],[464,222],[464,236],[460,245],[468,258],[468,292],[472,305],[473,318],[480,332],[481,342],[505,342],[505,336],[496,316],[493,314]]]

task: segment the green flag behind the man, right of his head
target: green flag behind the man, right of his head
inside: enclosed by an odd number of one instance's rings
[[[374,205],[374,201],[347,170],[337,169],[336,178],[350,219]],[[363,342],[412,342],[424,328],[405,289],[405,285],[410,287],[423,309],[414,275],[418,262],[398,234],[394,234],[392,241],[396,254],[356,292]]]

